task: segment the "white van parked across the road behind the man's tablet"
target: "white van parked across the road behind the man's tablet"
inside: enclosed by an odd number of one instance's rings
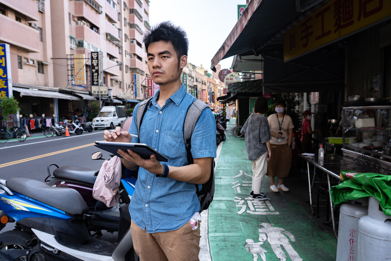
[[[96,128],[110,128],[121,125],[122,121],[126,119],[125,106],[105,106],[102,107],[100,113],[92,120],[92,127]]]

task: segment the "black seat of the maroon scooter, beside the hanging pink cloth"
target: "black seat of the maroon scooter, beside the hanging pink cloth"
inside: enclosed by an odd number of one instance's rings
[[[96,171],[84,167],[62,166],[53,171],[53,176],[61,179],[71,179],[94,185]]]

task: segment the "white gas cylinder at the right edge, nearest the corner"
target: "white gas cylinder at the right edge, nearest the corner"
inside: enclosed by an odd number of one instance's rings
[[[360,218],[358,231],[357,261],[391,259],[391,216],[383,213],[374,197],[369,197],[368,215]]]

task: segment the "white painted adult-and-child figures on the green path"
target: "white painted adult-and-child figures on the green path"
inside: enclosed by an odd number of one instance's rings
[[[290,232],[285,231],[283,228],[273,227],[270,223],[261,223],[261,225],[263,226],[263,228],[260,228],[258,230],[258,240],[260,242],[255,243],[253,239],[246,239],[246,251],[250,252],[253,255],[254,261],[258,261],[258,254],[261,256],[262,261],[266,261],[265,253],[267,253],[267,251],[261,247],[265,240],[269,242],[274,254],[280,261],[286,261],[286,255],[282,250],[281,246],[284,247],[285,251],[288,253],[289,258],[292,261],[303,260],[289,243],[289,239],[292,242],[296,241],[295,237]]]

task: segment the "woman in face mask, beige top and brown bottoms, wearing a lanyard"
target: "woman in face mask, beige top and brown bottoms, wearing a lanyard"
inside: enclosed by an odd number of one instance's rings
[[[273,192],[289,191],[283,185],[284,178],[289,174],[292,165],[292,143],[293,122],[292,119],[284,113],[286,103],[284,100],[276,102],[276,114],[272,114],[267,118],[270,126],[272,139],[271,159],[267,166],[266,175],[270,179],[270,190]],[[278,185],[276,186],[274,177],[278,177]]]

